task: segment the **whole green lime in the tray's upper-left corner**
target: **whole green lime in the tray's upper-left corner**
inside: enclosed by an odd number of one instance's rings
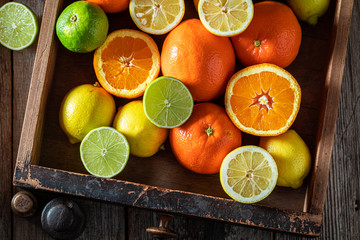
[[[106,39],[109,21],[96,4],[76,1],[67,6],[56,22],[60,42],[73,52],[87,53],[98,48]]]

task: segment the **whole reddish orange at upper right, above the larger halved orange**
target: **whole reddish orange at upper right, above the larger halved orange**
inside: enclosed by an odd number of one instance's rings
[[[285,4],[259,2],[254,4],[250,25],[231,40],[243,65],[273,63],[285,68],[299,52],[301,27],[293,11]]]

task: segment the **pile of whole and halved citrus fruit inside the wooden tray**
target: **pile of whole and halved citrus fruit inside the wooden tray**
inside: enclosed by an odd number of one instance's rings
[[[301,83],[284,69],[301,46],[297,15],[276,1],[194,0],[190,7],[197,18],[183,19],[184,0],[87,0],[59,15],[60,42],[93,52],[98,80],[68,92],[59,112],[70,142],[81,142],[85,168],[114,177],[130,154],[151,157],[169,141],[181,166],[219,174],[236,201],[258,202],[276,185],[301,187],[311,155],[290,130]],[[109,33],[108,14],[124,11],[137,29]],[[158,44],[151,36],[163,34]],[[115,98],[130,100],[116,106]],[[258,146],[242,145],[242,134],[257,136]]]

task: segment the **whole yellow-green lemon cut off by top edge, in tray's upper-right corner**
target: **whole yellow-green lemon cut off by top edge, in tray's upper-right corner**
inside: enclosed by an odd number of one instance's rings
[[[316,25],[318,18],[329,8],[330,0],[288,0],[295,15],[310,25]]]

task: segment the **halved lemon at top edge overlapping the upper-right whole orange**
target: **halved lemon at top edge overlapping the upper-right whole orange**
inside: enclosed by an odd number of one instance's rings
[[[254,15],[251,0],[200,0],[198,12],[204,27],[218,36],[243,32]]]

